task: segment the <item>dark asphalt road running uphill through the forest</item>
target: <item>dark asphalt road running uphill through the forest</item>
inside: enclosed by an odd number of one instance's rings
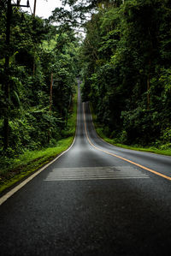
[[[171,158],[111,146],[78,100],[74,145],[0,206],[0,255],[170,255]]]

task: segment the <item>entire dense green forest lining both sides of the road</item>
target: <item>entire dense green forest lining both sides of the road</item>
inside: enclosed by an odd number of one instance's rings
[[[171,2],[62,3],[70,11],[56,8],[42,19],[1,0],[3,166],[71,135],[77,78],[83,101],[115,143],[171,147]]]

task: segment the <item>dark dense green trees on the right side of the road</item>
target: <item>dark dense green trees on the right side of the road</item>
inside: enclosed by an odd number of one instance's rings
[[[115,142],[171,146],[171,3],[103,1],[85,24],[83,98]]]

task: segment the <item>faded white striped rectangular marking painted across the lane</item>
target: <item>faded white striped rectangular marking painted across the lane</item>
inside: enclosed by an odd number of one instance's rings
[[[57,181],[90,181],[118,179],[146,179],[148,175],[132,166],[106,166],[81,168],[55,168],[44,180]]]

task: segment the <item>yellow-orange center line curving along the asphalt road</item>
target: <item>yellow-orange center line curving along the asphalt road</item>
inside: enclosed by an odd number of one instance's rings
[[[84,111],[84,122],[85,122],[85,104],[83,104],[83,111]],[[140,167],[140,168],[142,168],[142,169],[144,169],[144,170],[148,170],[148,171],[150,171],[151,173],[155,174],[156,176],[161,176],[162,178],[165,178],[165,179],[167,179],[168,181],[171,181],[171,177],[165,176],[165,175],[163,175],[162,173],[160,173],[160,172],[158,172],[158,171],[156,171],[156,170],[151,170],[150,168],[147,168],[147,167],[145,167],[145,166],[143,166],[143,165],[141,165],[141,164],[137,164],[137,163],[135,163],[135,162],[133,162],[133,161],[131,161],[131,160],[128,160],[127,158],[122,158],[122,157],[120,157],[120,156],[118,156],[118,155],[115,155],[114,153],[105,151],[105,150],[103,150],[103,149],[101,149],[101,148],[95,146],[95,145],[91,142],[91,140],[90,140],[90,138],[89,138],[89,136],[88,136],[87,128],[86,128],[86,122],[85,122],[85,134],[86,134],[86,138],[87,138],[88,142],[91,144],[91,146],[93,146],[94,148],[96,148],[98,151],[104,152],[104,153],[106,153],[106,154],[108,154],[108,155],[110,155],[110,156],[113,156],[113,157],[115,157],[115,158],[120,158],[121,160],[124,160],[124,161],[126,161],[126,162],[128,162],[128,163],[130,163],[130,164],[134,164],[134,165],[136,165],[136,166],[138,166],[138,167]]]

